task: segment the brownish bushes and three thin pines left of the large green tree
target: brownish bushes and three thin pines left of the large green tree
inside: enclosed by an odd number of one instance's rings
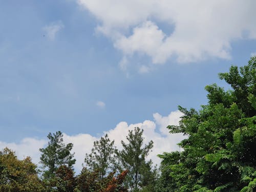
[[[153,141],[143,144],[143,130],[135,127],[118,151],[108,134],[94,142],[81,172],[75,176],[73,144],[63,134],[49,133],[48,146],[40,148],[40,167],[31,158],[18,160],[8,148],[0,151],[0,191],[152,191],[157,169],[146,160]]]

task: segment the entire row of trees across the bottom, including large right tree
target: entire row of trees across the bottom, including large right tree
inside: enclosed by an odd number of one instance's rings
[[[256,57],[248,65],[220,73],[230,90],[206,86],[208,103],[184,114],[170,133],[183,133],[180,152],[165,152],[160,168],[147,160],[153,141],[143,143],[135,127],[117,150],[106,134],[94,142],[75,175],[73,144],[61,132],[49,133],[37,167],[30,157],[0,151],[0,191],[248,191],[256,189]]]

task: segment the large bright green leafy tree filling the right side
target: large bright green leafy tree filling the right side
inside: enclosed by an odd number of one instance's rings
[[[164,153],[157,191],[253,191],[256,185],[256,57],[219,77],[232,90],[206,86],[208,104],[186,110],[170,133],[187,135],[183,152]]]

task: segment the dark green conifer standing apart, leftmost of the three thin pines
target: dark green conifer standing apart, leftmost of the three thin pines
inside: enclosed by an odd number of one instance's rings
[[[44,179],[51,179],[60,165],[67,165],[72,168],[76,160],[73,159],[74,153],[71,154],[73,144],[65,145],[62,138],[63,134],[60,131],[53,135],[49,133],[47,137],[50,140],[48,146],[39,149],[41,152],[40,163],[44,168],[42,175]]]

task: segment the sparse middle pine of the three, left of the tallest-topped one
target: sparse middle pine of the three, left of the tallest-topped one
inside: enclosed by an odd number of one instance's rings
[[[113,172],[116,161],[116,147],[114,140],[111,141],[106,134],[100,140],[94,142],[91,154],[86,154],[84,162],[89,170],[98,170],[99,178],[103,179],[106,174]]]

